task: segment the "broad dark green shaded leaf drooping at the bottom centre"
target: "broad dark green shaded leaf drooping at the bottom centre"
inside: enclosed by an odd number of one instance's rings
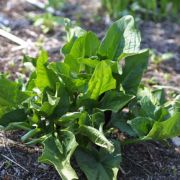
[[[105,149],[98,152],[95,149],[76,151],[78,165],[88,180],[116,180],[121,162],[119,142],[115,143],[115,151],[110,154]]]

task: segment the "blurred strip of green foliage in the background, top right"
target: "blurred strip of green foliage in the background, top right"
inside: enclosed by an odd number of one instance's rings
[[[113,18],[131,14],[145,19],[161,20],[177,18],[180,12],[179,0],[101,0],[101,3]]]

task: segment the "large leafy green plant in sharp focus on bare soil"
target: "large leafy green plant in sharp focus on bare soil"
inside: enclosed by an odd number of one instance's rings
[[[72,158],[87,179],[116,179],[124,143],[180,135],[180,101],[166,103],[163,90],[140,83],[149,53],[140,50],[133,17],[113,23],[102,42],[76,30],[63,62],[48,63],[44,51],[26,60],[35,67],[26,85],[0,77],[0,125],[27,131],[27,144],[42,143],[39,161],[62,179],[78,179]]]

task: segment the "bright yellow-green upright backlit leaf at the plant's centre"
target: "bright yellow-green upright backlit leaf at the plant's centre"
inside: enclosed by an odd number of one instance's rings
[[[97,99],[102,93],[115,88],[116,81],[112,76],[110,66],[105,61],[101,61],[88,83],[86,97]]]

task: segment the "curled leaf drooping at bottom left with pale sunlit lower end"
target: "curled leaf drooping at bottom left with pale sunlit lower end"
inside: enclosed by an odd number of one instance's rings
[[[59,139],[63,146],[63,153],[59,151],[55,137],[51,135],[43,142],[44,150],[39,161],[54,165],[63,180],[78,179],[70,164],[70,158],[78,145],[75,136],[70,131],[64,130],[61,131]]]

